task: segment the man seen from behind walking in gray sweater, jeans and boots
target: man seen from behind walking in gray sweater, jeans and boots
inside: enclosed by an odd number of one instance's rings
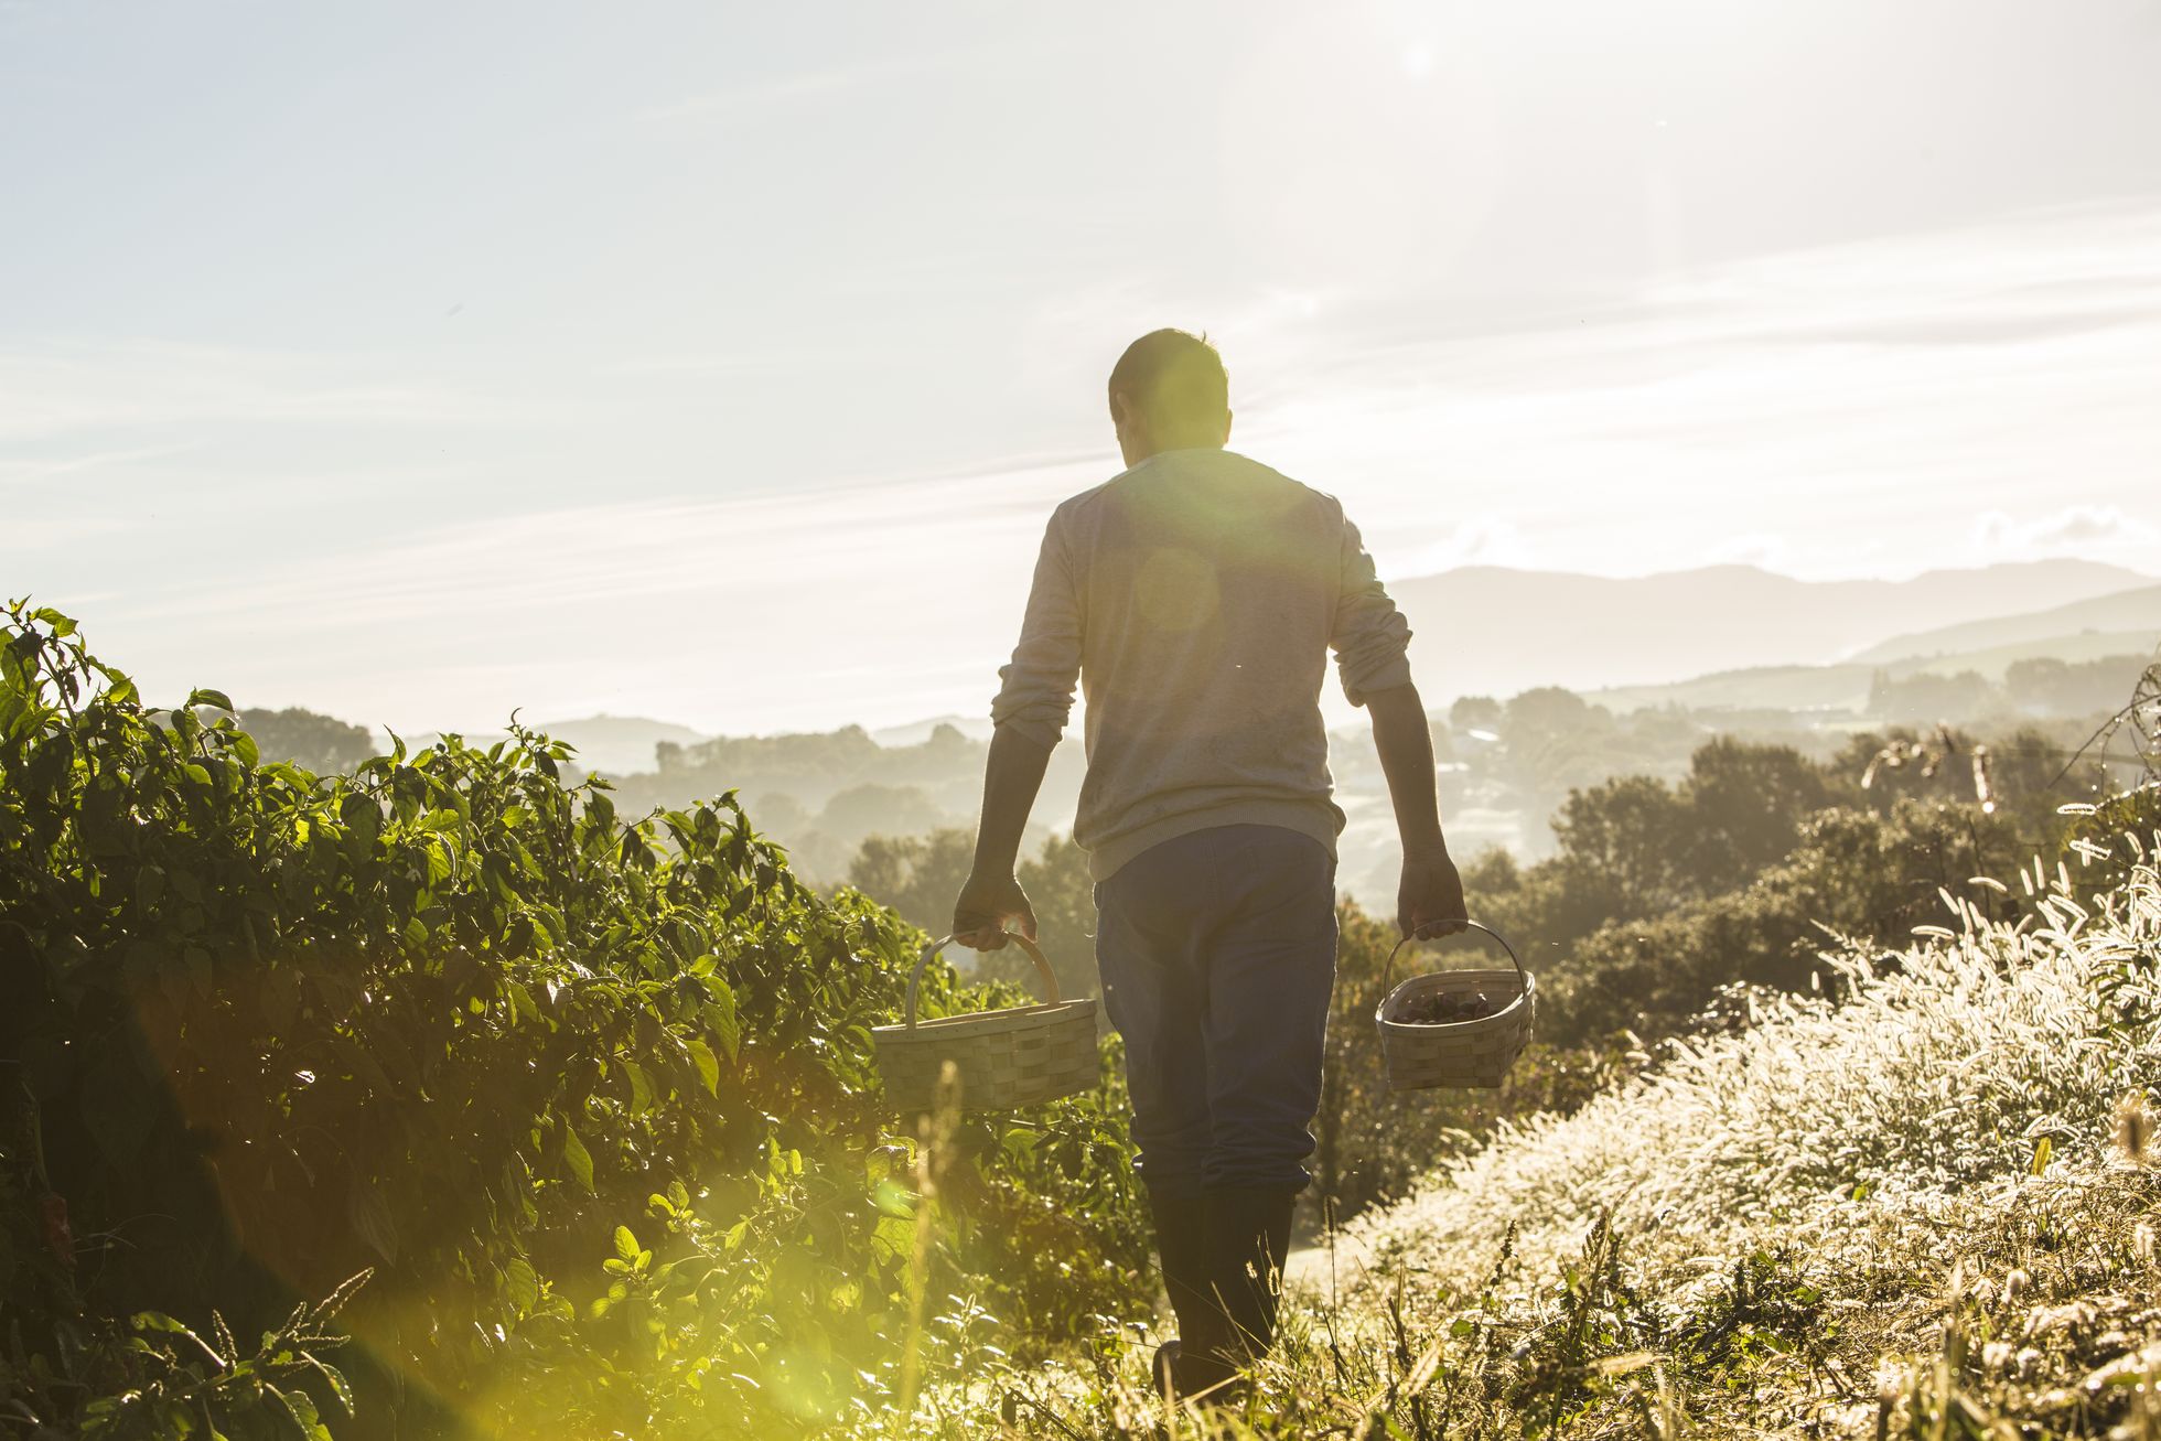
[[[1335,652],[1402,836],[1396,920],[1461,929],[1411,631],[1342,506],[1225,449],[1230,382],[1184,331],[1111,372],[1126,471],[1050,516],[1020,646],[998,674],[975,871],[953,933],[1035,938],[1014,875],[1044,765],[1087,691],[1089,851],[1104,1007],[1126,1037],[1132,1136],[1180,1339],[1182,1396],[1275,1337],[1290,1214],[1310,1175],[1335,983],[1335,836],[1320,687]]]

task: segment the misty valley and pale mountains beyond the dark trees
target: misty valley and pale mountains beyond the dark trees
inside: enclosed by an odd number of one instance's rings
[[[1524,858],[1552,849],[1545,819],[1569,789],[1627,771],[1677,778],[1716,735],[1822,758],[1871,726],[2036,722],[2062,724],[2059,741],[2075,745],[2077,722],[2120,704],[2161,644],[2161,583],[2079,560],[1910,581],[1800,581],[1753,566],[1640,579],[1469,566],[1392,592],[1415,633],[1450,836],[1465,853],[1498,845]],[[579,767],[614,778],[627,806],[737,789],[797,868],[832,884],[871,836],[972,830],[994,683],[985,670],[975,715],[877,728],[834,717],[823,730],[722,737],[627,715],[534,724],[568,741]],[[1549,689],[1567,696],[1539,700]],[[1342,877],[1372,899],[1394,884],[1385,778],[1364,717],[1340,696],[1331,711],[1348,814]],[[1076,704],[1033,845],[1072,825],[1080,724]]]

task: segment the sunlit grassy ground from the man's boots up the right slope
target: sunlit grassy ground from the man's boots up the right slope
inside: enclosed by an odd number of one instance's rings
[[[1945,897],[1895,955],[1500,1134],[1294,1268],[1238,1411],[1169,1417],[1147,1337],[858,1435],[2152,1437],[2161,877]]]

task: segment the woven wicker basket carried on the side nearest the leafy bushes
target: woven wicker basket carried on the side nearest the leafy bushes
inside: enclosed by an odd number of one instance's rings
[[[959,1069],[964,1110],[1035,1106],[1093,1087],[1096,1000],[1061,1000],[1050,961],[1026,935],[1007,940],[1035,961],[1050,994],[1046,1005],[916,1022],[923,966],[951,940],[951,935],[934,940],[916,957],[916,970],[908,977],[908,1020],[899,1026],[871,1028],[886,1100],[903,1115],[929,1110],[938,1100],[938,1072],[947,1061]]]

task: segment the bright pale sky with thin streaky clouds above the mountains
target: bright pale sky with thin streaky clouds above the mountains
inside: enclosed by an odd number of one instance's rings
[[[2161,570],[2161,0],[0,0],[0,592],[153,700],[979,715],[1102,380],[1385,577]]]

